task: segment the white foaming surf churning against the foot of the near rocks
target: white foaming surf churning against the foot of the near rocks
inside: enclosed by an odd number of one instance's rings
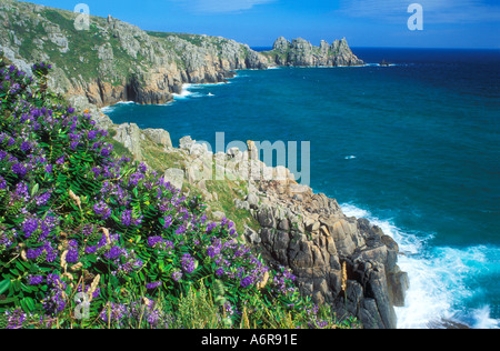
[[[443,320],[479,329],[500,327],[500,320],[490,317],[490,307],[478,310],[464,307],[479,294],[468,283],[470,279],[499,277],[499,248],[431,247],[428,241],[432,233],[408,233],[356,205],[341,207],[346,215],[370,220],[400,245],[399,265],[408,272],[410,289],[406,305],[396,309],[399,329],[427,329]]]

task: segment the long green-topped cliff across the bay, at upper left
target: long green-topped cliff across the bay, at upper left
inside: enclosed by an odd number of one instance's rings
[[[84,96],[98,107],[118,101],[166,103],[183,83],[226,81],[236,69],[263,69],[267,59],[224,38],[146,32],[111,17],[90,17],[77,30],[77,13],[0,1],[0,50],[30,72],[46,60],[54,67],[50,88]]]

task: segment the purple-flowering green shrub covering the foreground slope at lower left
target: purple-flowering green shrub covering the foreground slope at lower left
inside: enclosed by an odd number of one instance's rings
[[[179,299],[197,287],[212,291],[226,327],[259,303],[302,315],[304,327],[313,320],[290,272],[274,272],[239,243],[229,220],[207,222],[200,199],[116,157],[107,131],[47,91],[50,70],[36,64],[33,82],[0,57],[4,328],[34,317],[39,328],[56,319],[58,327],[130,328],[134,318],[168,327]],[[89,315],[78,319],[83,302]]]

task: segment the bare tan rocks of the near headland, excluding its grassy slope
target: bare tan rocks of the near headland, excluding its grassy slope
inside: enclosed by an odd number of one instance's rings
[[[404,305],[409,279],[397,264],[398,244],[380,228],[346,217],[334,199],[300,185],[288,169],[267,167],[251,150],[213,154],[187,137],[179,152],[193,158],[186,174],[200,162],[223,160],[228,178],[244,180],[248,194],[234,205],[260,224],[246,228],[246,240],[267,261],[292,269],[302,294],[333,305],[339,317],[357,317],[364,328],[397,328],[394,307]]]

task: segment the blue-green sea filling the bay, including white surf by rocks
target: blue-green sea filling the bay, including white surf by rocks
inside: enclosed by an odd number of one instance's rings
[[[104,112],[174,144],[310,141],[314,191],[400,244],[411,287],[399,328],[500,328],[500,51],[353,51],[369,63],[239,71],[167,106]]]

